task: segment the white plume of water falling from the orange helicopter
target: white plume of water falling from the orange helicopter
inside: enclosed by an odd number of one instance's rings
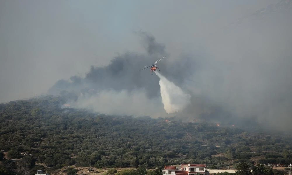
[[[166,113],[182,111],[190,103],[191,96],[183,92],[180,87],[166,79],[159,72],[155,71],[155,74],[160,78],[160,93]]]

